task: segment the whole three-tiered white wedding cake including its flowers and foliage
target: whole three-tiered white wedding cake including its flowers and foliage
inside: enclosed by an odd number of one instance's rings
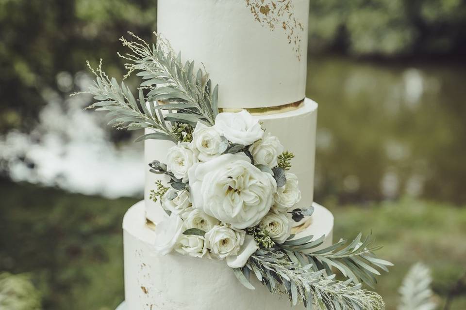
[[[123,219],[119,309],[383,309],[361,282],[373,287],[374,267],[390,263],[361,234],[333,244],[333,215],[313,202],[309,0],[157,9],[157,45],[121,38],[128,75],[143,79],[138,97],[91,68],[90,108],[145,129],[145,198]]]

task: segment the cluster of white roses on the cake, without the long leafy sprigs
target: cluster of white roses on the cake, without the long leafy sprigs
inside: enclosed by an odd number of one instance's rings
[[[278,168],[282,153],[278,138],[264,134],[246,110],[220,113],[211,127],[198,123],[192,142],[168,150],[167,173],[186,186],[161,199],[169,217],[156,227],[155,251],[226,259],[238,268],[259,248],[247,228],[285,242],[292,227],[288,211],[301,193],[296,175]],[[273,171],[284,174],[282,186]]]

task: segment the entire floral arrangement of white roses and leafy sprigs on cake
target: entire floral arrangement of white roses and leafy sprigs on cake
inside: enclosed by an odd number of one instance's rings
[[[89,108],[108,111],[119,129],[151,129],[136,141],[175,143],[166,162],[150,163],[168,180],[151,192],[167,214],[156,225],[153,250],[225,260],[245,287],[254,289],[255,277],[307,309],[384,309],[382,298],[362,287],[374,287],[378,269],[392,265],[374,255],[380,247],[361,234],[316,251],[325,236],[296,239],[293,221],[313,208],[295,208],[301,193],[289,172],[294,155],[248,111],[219,113],[218,85],[203,68],[194,73],[194,62],[183,64],[166,40],[156,34],[158,44],[150,46],[130,34],[133,42],[121,41],[131,52],[120,56],[128,75],[143,79],[138,99],[100,62],[91,68],[97,78],[88,93],[97,102]],[[336,270],[346,279],[335,279]]]

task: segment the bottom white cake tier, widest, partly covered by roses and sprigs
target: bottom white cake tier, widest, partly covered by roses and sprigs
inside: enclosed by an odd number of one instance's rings
[[[314,203],[315,212],[298,228],[296,238],[325,235],[319,248],[332,244],[333,215]],[[251,279],[255,290],[245,288],[224,261],[171,253],[156,255],[156,237],[146,223],[145,204],[133,205],[123,219],[125,305],[131,310],[286,310],[293,307],[287,296],[270,294]],[[315,250],[318,250],[316,248]],[[252,278],[252,277],[251,277]]]

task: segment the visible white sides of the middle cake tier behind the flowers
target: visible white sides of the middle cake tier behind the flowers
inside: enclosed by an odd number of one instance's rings
[[[314,162],[316,156],[316,124],[317,124],[317,104],[311,99],[305,99],[299,109],[269,115],[254,116],[264,122],[266,132],[277,136],[282,142],[285,150],[293,152],[295,158],[292,159],[290,172],[295,173],[299,179],[301,190],[301,201],[296,206],[301,208],[309,207],[314,198]],[[146,140],[145,142],[145,162],[149,164],[153,160],[166,162],[166,151],[173,142],[164,140]],[[155,189],[157,180],[168,181],[164,175],[149,172],[146,166],[146,185],[144,198],[146,201],[146,215],[152,222],[165,213],[160,202],[152,202],[149,199],[150,190]]]

